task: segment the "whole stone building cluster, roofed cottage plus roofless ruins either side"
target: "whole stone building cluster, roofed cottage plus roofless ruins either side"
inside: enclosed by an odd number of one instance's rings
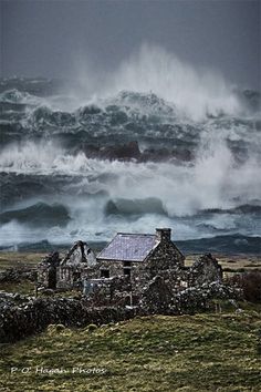
[[[211,255],[185,267],[170,228],[156,229],[154,235],[118,233],[97,256],[86,243],[77,241],[63,259],[54,252],[39,265],[39,285],[45,288],[83,287],[86,296],[100,288],[111,300],[129,292],[138,299],[158,277],[177,290],[221,281],[222,270]]]

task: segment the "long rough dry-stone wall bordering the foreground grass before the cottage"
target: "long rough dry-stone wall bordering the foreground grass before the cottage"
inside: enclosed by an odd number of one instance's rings
[[[160,277],[144,288],[138,307],[90,306],[86,299],[22,298],[0,293],[0,342],[43,331],[49,324],[97,326],[146,314],[184,314],[211,309],[211,300],[240,299],[241,291],[218,282],[175,291]]]

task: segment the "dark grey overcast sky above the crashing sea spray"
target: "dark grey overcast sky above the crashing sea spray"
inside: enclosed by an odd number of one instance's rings
[[[111,70],[142,43],[260,86],[259,0],[0,0],[1,75],[72,78],[75,59]]]

